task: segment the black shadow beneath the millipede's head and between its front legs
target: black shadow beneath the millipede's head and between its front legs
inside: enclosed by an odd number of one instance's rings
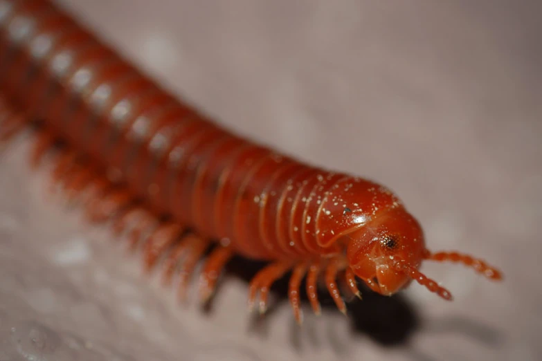
[[[249,282],[252,277],[261,270],[267,263],[251,261],[242,257],[235,257],[227,267],[227,272],[236,277],[240,277]],[[271,292],[275,296],[276,302],[269,304],[268,313],[273,313],[278,304],[288,302],[288,280],[289,275],[285,275],[271,287]],[[377,295],[363,285],[359,285],[363,294],[363,300],[352,299],[347,302],[348,317],[352,322],[354,333],[366,335],[383,346],[397,346],[407,344],[409,336],[419,328],[419,317],[413,304],[402,295],[385,297]],[[308,303],[305,293],[305,281],[301,286],[302,302]],[[336,306],[325,290],[318,291],[318,298],[322,308],[332,308],[336,311]],[[337,311],[338,312],[338,311]],[[265,328],[258,315],[255,317],[254,326]],[[267,331],[263,331],[267,333]]]

